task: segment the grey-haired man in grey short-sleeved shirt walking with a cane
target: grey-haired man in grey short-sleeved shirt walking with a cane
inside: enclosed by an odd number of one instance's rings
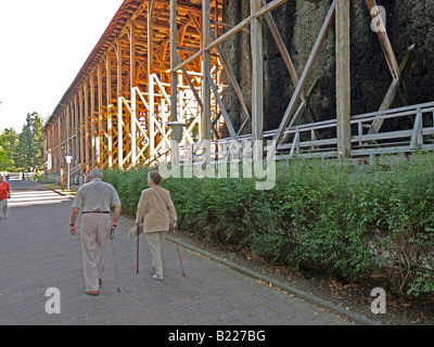
[[[76,234],[75,222],[81,210],[80,241],[86,294],[95,296],[99,294],[99,285],[104,272],[106,243],[111,230],[117,228],[117,220],[120,216],[120,201],[114,187],[102,181],[101,169],[91,169],[89,176],[91,181],[80,185],[74,198],[69,233]],[[112,205],[115,206],[113,220],[110,217]],[[94,257],[95,245],[97,259]]]

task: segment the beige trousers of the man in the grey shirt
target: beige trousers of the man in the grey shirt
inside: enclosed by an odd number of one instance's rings
[[[86,287],[98,291],[104,272],[106,244],[112,221],[108,214],[85,214],[80,219],[82,269]]]

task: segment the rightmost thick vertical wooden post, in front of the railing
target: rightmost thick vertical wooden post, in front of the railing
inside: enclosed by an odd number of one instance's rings
[[[340,158],[348,157],[352,151],[349,7],[348,0],[336,0],[336,132]]]

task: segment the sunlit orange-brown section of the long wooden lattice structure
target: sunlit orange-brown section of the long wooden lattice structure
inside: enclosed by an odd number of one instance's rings
[[[213,23],[221,22],[221,0],[209,5]],[[176,47],[184,60],[203,44],[202,0],[178,1],[176,12]],[[213,26],[218,35],[218,25]],[[209,64],[220,88],[215,55]],[[175,75],[178,120],[188,125],[182,143],[202,138],[202,76],[201,59]],[[215,98],[209,107],[216,107]],[[169,120],[170,3],[126,0],[44,127],[47,171],[60,172],[66,156],[81,176],[95,166],[128,169],[164,158]]]

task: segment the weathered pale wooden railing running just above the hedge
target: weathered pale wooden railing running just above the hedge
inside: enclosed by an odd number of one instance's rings
[[[379,120],[383,123],[383,130],[369,133],[371,125]],[[393,127],[390,127],[391,123]],[[350,125],[354,157],[411,153],[420,149],[434,151],[434,102],[353,116]],[[264,132],[264,154],[276,133],[277,130]],[[204,153],[209,153],[212,162],[240,159],[251,155],[252,136],[239,136],[239,142],[227,138],[207,144],[180,145],[180,162],[202,160]],[[286,128],[277,147],[276,159],[295,157],[337,157],[336,119]]]

